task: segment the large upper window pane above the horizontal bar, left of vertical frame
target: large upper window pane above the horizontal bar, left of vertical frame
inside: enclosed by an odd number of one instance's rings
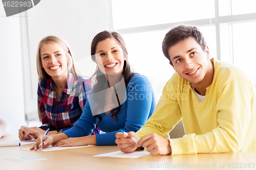
[[[215,17],[214,0],[112,0],[114,29]],[[203,15],[202,15],[203,14]]]

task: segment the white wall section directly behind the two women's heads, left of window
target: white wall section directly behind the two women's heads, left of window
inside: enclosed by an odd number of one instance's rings
[[[48,35],[65,39],[75,60],[80,61],[83,74],[91,76],[96,65],[90,57],[93,37],[109,30],[107,5],[109,1],[44,0],[28,10],[29,52],[32,80],[37,80],[36,50],[39,41]],[[82,64],[81,64],[82,61]],[[82,67],[81,67],[82,66]],[[32,82],[33,98],[37,98],[37,82]]]

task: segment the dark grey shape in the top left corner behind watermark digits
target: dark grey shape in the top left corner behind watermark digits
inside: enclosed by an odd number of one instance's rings
[[[27,11],[36,6],[40,0],[2,0],[6,16],[12,16]]]

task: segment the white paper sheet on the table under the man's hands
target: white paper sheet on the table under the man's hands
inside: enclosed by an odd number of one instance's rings
[[[147,151],[135,151],[128,154],[123,153],[121,151],[117,151],[117,152],[111,152],[111,153],[106,153],[101,155],[95,155],[95,157],[139,158],[147,155],[150,155],[150,153]]]

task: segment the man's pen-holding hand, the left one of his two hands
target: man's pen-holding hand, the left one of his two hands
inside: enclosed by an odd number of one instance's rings
[[[128,135],[137,139],[137,135],[134,132],[129,132]],[[120,149],[120,151],[124,153],[134,152],[138,148],[137,143],[122,132],[116,133],[115,142],[117,144],[117,147]]]

